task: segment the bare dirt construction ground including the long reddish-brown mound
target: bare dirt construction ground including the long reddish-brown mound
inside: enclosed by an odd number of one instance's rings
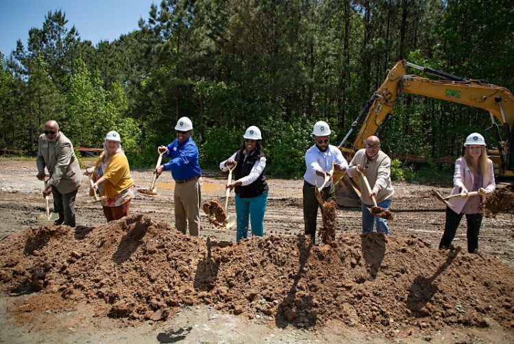
[[[199,238],[174,229],[169,173],[110,224],[84,177],[77,228],[51,226],[36,173],[0,160],[0,343],[514,343],[514,214],[483,219],[478,254],[465,219],[439,250],[448,187],[393,183],[389,237],[337,208],[336,240],[310,245],[302,181],[267,178],[265,235],[237,244],[203,212]],[[225,177],[204,171],[202,202]]]

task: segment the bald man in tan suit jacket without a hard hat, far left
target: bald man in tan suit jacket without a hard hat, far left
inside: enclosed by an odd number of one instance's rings
[[[53,211],[59,213],[56,225],[75,227],[75,197],[82,182],[79,161],[71,141],[59,130],[56,121],[45,123],[45,134],[38,138],[38,180],[45,180],[45,167],[49,172],[46,197],[53,195]]]

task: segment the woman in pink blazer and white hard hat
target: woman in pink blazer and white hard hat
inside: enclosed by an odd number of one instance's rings
[[[467,251],[475,253],[478,249],[478,233],[482,224],[480,204],[482,197],[491,195],[495,188],[493,162],[487,158],[484,137],[476,132],[467,136],[464,143],[464,156],[455,161],[452,195],[461,193],[462,198],[450,199],[452,207],[446,207],[444,234],[439,248],[448,248],[455,237],[458,224],[463,215],[467,221]],[[467,196],[478,191],[480,195]]]

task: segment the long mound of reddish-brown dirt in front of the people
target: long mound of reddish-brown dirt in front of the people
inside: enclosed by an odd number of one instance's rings
[[[41,291],[25,310],[87,302],[95,315],[158,321],[208,304],[276,325],[342,321],[387,336],[417,326],[514,327],[514,273],[500,260],[415,236],[345,234],[239,243],[186,236],[142,215],[97,228],[49,226],[0,242],[0,288]]]

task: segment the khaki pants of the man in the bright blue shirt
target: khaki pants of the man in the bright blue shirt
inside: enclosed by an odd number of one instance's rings
[[[175,184],[175,227],[186,234],[189,223],[189,234],[200,234],[200,202],[201,202],[201,177],[190,182]]]

